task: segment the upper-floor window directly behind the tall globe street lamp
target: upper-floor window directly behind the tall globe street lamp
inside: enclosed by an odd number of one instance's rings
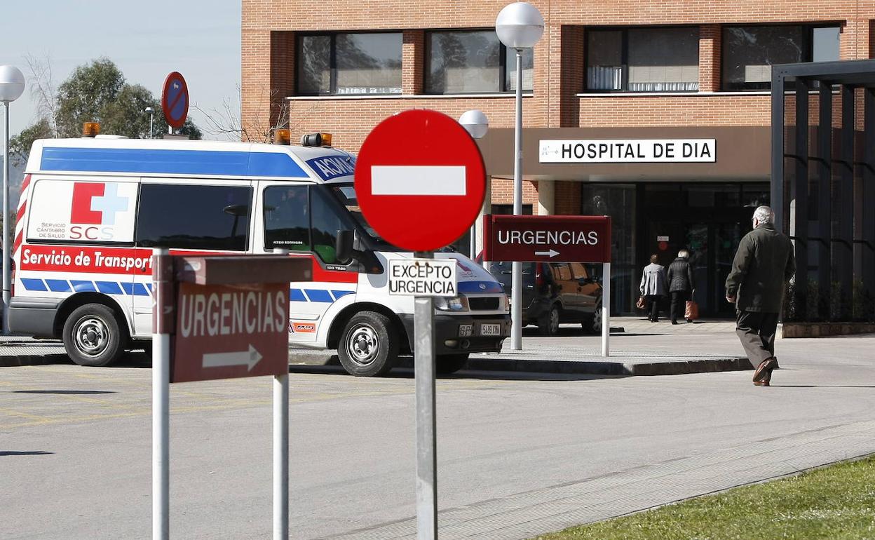
[[[426,94],[476,94],[516,90],[516,52],[494,30],[427,32]],[[522,89],[531,91],[534,60],[522,53]]]

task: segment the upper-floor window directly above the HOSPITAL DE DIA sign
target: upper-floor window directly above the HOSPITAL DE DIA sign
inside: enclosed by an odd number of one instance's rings
[[[696,92],[699,30],[624,28],[586,31],[586,89]]]

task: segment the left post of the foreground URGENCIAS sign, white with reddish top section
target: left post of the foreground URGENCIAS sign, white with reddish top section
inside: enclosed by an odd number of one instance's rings
[[[173,332],[173,260],[152,250],[152,538],[170,538],[170,336]]]

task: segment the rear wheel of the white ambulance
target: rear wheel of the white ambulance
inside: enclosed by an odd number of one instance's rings
[[[127,333],[106,305],[82,305],[64,322],[66,354],[80,366],[109,366],[124,354],[127,345]]]

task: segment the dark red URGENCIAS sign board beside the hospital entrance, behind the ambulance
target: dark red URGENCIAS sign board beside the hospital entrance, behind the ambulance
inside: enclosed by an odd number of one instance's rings
[[[485,215],[483,220],[486,261],[611,262],[606,215]]]

